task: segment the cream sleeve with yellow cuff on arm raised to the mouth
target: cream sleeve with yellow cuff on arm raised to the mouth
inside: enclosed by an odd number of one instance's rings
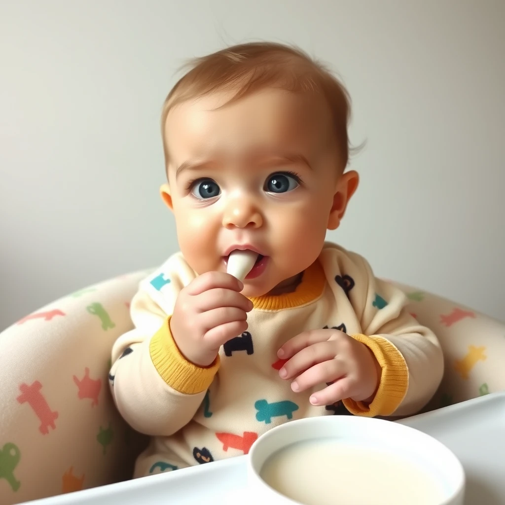
[[[132,299],[131,315],[135,329],[113,346],[111,392],[132,428],[169,436],[195,415],[218,361],[203,368],[184,359],[170,334],[170,318],[142,289]]]

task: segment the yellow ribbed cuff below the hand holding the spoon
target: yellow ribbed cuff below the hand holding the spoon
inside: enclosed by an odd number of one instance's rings
[[[219,355],[208,367],[198,367],[182,356],[170,331],[170,317],[149,342],[149,354],[161,378],[184,394],[208,389],[219,369]]]

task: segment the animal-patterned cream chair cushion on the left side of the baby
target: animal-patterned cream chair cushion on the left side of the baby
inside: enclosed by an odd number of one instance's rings
[[[145,275],[89,286],[0,334],[1,505],[131,476],[138,437],[115,410],[108,376]]]

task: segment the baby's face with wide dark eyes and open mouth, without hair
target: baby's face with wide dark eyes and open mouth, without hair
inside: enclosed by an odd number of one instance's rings
[[[224,272],[233,249],[255,250],[261,261],[242,292],[260,296],[317,259],[347,198],[334,198],[342,177],[323,100],[264,89],[217,109],[227,99],[170,112],[162,191],[191,268]]]

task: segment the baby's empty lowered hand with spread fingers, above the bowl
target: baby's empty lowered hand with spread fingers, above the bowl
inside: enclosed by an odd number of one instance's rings
[[[279,375],[283,379],[295,378],[291,383],[293,391],[330,383],[311,395],[312,405],[330,405],[344,398],[369,403],[375,396],[381,374],[379,363],[365,344],[342,331],[300,333],[287,341],[277,355],[288,360]]]

